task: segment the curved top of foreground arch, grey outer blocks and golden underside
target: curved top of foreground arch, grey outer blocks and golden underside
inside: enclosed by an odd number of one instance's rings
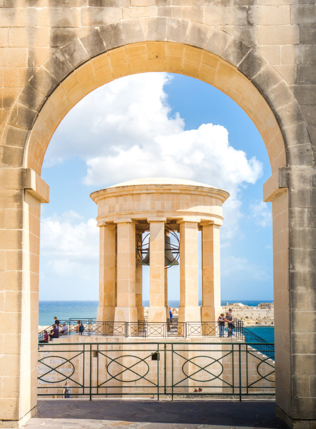
[[[12,108],[5,140],[10,146],[12,135],[19,133],[24,147],[10,147],[16,155],[14,164],[4,148],[5,165],[23,165],[40,174],[38,160],[41,164],[56,126],[72,106],[104,83],[144,71],[183,73],[225,92],[259,130],[272,172],[301,164],[300,149],[305,151],[304,163],[312,163],[309,136],[293,92],[253,47],[204,24],[157,17],[94,29],[50,57]]]

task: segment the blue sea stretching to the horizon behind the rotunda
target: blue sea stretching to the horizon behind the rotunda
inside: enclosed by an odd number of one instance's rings
[[[260,302],[273,302],[267,300],[260,301],[245,301],[245,300],[229,300],[223,299],[221,305],[226,302],[241,302],[249,306],[256,306]],[[180,301],[170,300],[169,306],[178,308]],[[98,301],[39,301],[39,319],[40,326],[49,326],[54,323],[54,316],[60,320],[66,319],[86,319],[95,318],[96,309],[98,308]],[[202,301],[199,302],[202,305]],[[144,307],[149,307],[149,301],[143,301]],[[263,338],[269,343],[274,343],[274,326],[248,326],[247,329],[254,332],[260,338]]]

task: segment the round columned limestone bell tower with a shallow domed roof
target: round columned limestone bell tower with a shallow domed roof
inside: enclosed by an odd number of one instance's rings
[[[169,317],[165,234],[180,235],[179,322],[215,321],[221,306],[220,227],[228,192],[171,178],[136,179],[90,195],[100,227],[99,321],[138,322],[142,307],[139,237],[149,231],[149,322]],[[202,231],[202,307],[199,306],[198,231]]]

